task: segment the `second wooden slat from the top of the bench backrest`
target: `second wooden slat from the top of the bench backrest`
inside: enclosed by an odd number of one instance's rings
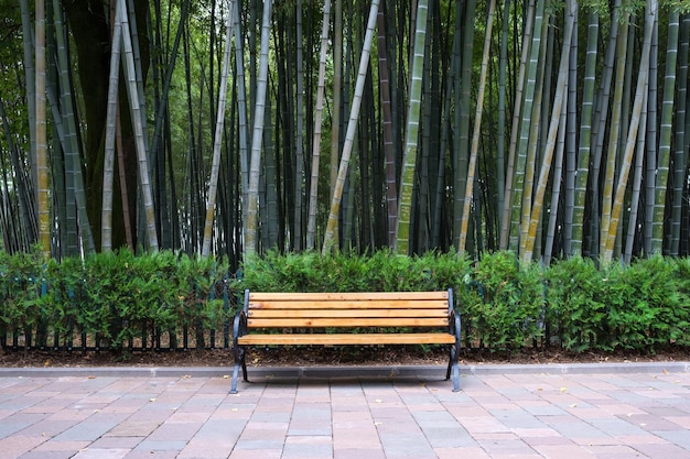
[[[249,309],[432,309],[448,314],[448,299],[249,299]]]

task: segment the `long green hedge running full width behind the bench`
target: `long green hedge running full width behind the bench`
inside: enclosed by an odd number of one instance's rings
[[[224,260],[121,250],[45,262],[0,251],[0,336],[26,347],[72,348],[80,335],[120,350],[182,329],[205,345],[227,329],[234,298],[263,292],[395,292],[453,288],[466,347],[518,351],[560,346],[572,352],[656,352],[690,346],[690,260],[654,256],[597,267],[572,258],[548,269],[513,252],[473,263],[454,253],[399,256],[316,252],[247,260],[229,278]],[[227,296],[225,294],[227,293]],[[230,298],[226,302],[225,298]],[[32,337],[35,337],[32,340]],[[171,338],[174,339],[174,338]],[[126,356],[125,356],[126,357]]]

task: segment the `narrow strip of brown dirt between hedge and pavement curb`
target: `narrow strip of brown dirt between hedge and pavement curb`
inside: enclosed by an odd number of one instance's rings
[[[689,349],[672,349],[654,354],[633,352],[571,353],[560,349],[525,350],[518,353],[463,350],[464,364],[490,363],[572,363],[572,362],[664,362],[690,360]],[[247,352],[250,365],[407,365],[444,364],[448,351],[410,347],[277,347],[251,349]],[[136,351],[114,354],[111,352],[0,350],[0,367],[228,367],[233,364],[233,351],[228,349],[188,351]]]

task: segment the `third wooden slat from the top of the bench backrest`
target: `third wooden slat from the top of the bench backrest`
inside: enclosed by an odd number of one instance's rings
[[[448,318],[446,309],[249,309],[250,319],[283,319],[283,318]]]

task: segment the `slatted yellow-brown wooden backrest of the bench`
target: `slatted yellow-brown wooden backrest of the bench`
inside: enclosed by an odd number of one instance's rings
[[[452,291],[245,292],[248,328],[448,327]]]

